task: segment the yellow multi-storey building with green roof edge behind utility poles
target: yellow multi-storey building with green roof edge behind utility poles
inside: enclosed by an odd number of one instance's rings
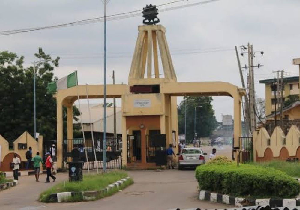
[[[265,114],[268,118],[269,115],[275,113],[275,104],[276,104],[276,111],[280,109],[279,98],[281,96],[280,91],[276,91],[276,100],[274,95],[274,90],[272,90],[271,85],[274,82],[274,79],[265,79],[260,80],[259,83],[265,84]],[[277,82],[277,79],[276,79]],[[298,95],[299,96],[299,77],[292,76],[283,78],[283,101],[289,95]],[[279,90],[279,88],[277,88]],[[287,116],[286,116],[287,117]]]

